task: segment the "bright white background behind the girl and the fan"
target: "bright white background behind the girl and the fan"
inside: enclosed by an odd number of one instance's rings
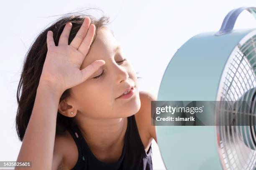
[[[225,15],[255,0],[5,0],[0,5],[0,161],[15,161],[21,142],[15,131],[16,92],[25,54],[38,33],[59,18],[50,17],[97,7],[110,17],[108,25],[131,61],[141,91],[157,96],[164,70],[177,49],[201,32],[218,31]],[[98,13],[98,12],[97,12]],[[102,13],[98,13],[101,15]],[[256,28],[247,12],[235,29]],[[170,139],[171,145],[172,139]],[[153,167],[165,169],[153,140]],[[172,154],[172,153],[170,153]]]

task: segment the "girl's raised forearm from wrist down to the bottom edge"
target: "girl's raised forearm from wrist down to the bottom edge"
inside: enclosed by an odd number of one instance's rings
[[[31,161],[32,169],[51,169],[60,97],[61,93],[39,83],[33,111],[17,158],[19,162]]]

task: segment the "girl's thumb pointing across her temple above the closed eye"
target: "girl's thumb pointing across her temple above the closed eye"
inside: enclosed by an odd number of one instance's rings
[[[97,71],[104,64],[104,60],[96,60],[84,69],[82,69],[82,81],[84,82],[85,80],[87,80],[95,71]]]

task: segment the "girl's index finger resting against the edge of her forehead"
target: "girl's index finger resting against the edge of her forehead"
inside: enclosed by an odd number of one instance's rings
[[[80,47],[77,49],[78,51],[82,52],[84,56],[87,55],[90,45],[92,44],[92,40],[95,34],[95,29],[96,29],[95,25],[91,24],[86,34],[86,37],[84,38]]]

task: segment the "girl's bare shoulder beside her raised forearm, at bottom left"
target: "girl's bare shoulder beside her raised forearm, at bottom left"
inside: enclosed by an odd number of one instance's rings
[[[56,135],[52,170],[71,170],[76,165],[77,160],[77,145],[70,133],[66,130],[64,134]]]

